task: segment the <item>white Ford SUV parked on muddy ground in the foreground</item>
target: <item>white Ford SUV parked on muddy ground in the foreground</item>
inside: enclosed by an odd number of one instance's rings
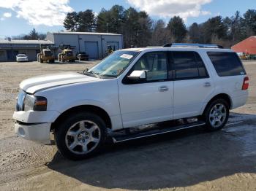
[[[21,82],[15,133],[50,144],[53,132],[62,155],[83,159],[107,137],[119,142],[199,125],[219,130],[229,110],[246,103],[248,86],[232,50],[195,44],[118,50],[83,74]],[[171,122],[148,125],[164,121]],[[134,130],[141,125],[147,130]]]

